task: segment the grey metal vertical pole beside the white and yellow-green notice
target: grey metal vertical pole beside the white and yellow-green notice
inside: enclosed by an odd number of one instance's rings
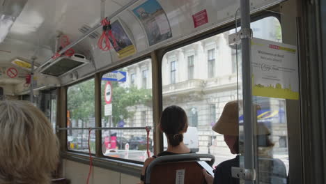
[[[254,122],[251,96],[251,49],[250,49],[250,5],[249,0],[240,0],[241,52],[242,52],[242,93],[244,115],[244,168],[254,170]],[[250,36],[249,36],[250,33]],[[245,181],[246,184],[254,181]]]

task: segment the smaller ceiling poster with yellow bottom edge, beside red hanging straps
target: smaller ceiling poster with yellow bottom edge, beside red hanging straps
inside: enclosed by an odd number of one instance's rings
[[[127,36],[127,33],[125,33],[123,26],[121,26],[118,20],[111,23],[111,31],[114,38],[116,39],[116,45],[114,45],[114,42],[111,39],[110,42],[111,45],[114,46],[119,59],[130,56],[136,52],[136,48],[132,44],[132,41]]]

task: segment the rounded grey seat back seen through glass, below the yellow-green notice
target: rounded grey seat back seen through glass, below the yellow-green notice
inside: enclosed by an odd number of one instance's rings
[[[286,165],[277,158],[258,158],[258,170],[261,183],[287,183]]]

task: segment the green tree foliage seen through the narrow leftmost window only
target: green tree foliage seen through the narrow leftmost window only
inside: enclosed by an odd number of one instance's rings
[[[68,88],[67,109],[70,118],[86,121],[95,114],[94,79]]]

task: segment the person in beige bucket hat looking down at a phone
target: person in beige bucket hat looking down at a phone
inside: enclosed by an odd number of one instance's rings
[[[239,101],[241,103],[242,101]],[[254,105],[255,110],[259,111],[261,107],[259,105]],[[232,154],[237,154],[237,156],[231,160],[226,160],[219,165],[217,165],[215,169],[215,176],[210,176],[203,169],[203,174],[205,176],[205,180],[208,184],[238,184],[239,179],[233,178],[231,174],[231,167],[239,167],[239,106],[238,101],[231,101],[226,103],[222,115],[213,125],[212,130],[215,132],[224,135],[224,141],[226,145],[230,149]],[[270,135],[270,130],[263,124],[258,123],[256,126],[256,138],[257,138],[257,146],[258,151],[259,148],[261,150],[268,150],[274,146],[268,136]],[[259,154],[258,154],[259,155]]]

